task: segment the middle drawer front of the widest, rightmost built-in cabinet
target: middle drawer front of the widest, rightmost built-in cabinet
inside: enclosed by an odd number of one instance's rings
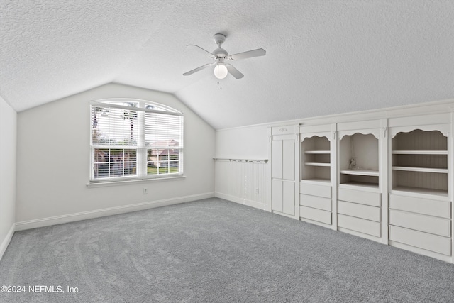
[[[451,222],[449,219],[435,216],[424,216],[406,211],[389,210],[389,224],[411,228],[416,231],[434,233],[438,236],[451,236]]]

